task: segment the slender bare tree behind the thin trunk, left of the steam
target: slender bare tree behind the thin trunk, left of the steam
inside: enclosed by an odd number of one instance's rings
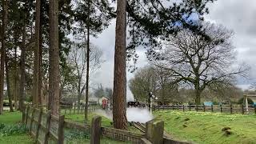
[[[78,102],[81,101],[82,93],[84,90],[86,90],[86,71],[88,70],[88,63],[90,63],[90,74],[93,74],[96,70],[98,70],[102,63],[102,51],[98,50],[98,48],[92,44],[90,44],[88,61],[87,46],[87,42],[74,44],[71,47],[69,56],[70,62],[74,66],[73,73],[78,79],[77,82],[74,82],[74,87],[78,92]],[[79,108],[80,106],[78,105],[78,109]]]

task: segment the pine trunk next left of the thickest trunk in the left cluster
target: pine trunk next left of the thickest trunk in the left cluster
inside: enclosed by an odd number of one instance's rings
[[[40,0],[36,1],[36,19],[35,19],[35,46],[34,46],[34,73],[33,73],[33,89],[32,98],[33,106],[38,107],[38,73],[39,73],[39,42],[40,42]]]

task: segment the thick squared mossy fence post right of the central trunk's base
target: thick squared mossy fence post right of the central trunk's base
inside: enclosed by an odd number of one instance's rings
[[[163,130],[164,122],[162,121],[152,120],[150,122],[146,122],[146,139],[152,142],[152,144],[162,144]]]

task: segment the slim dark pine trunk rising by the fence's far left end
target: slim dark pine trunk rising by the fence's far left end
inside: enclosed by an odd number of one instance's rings
[[[20,74],[21,80],[19,85],[19,105],[18,110],[22,111],[24,106],[24,89],[25,89],[25,60],[26,60],[26,20],[24,19],[23,23],[23,32],[22,32],[22,53],[21,53],[21,66],[20,66]]]

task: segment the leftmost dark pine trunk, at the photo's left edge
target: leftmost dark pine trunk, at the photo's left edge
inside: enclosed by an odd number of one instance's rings
[[[7,23],[7,0],[2,0],[2,48],[1,48],[1,66],[0,66],[0,114],[3,111],[4,98],[4,72],[6,58],[6,23]]]

